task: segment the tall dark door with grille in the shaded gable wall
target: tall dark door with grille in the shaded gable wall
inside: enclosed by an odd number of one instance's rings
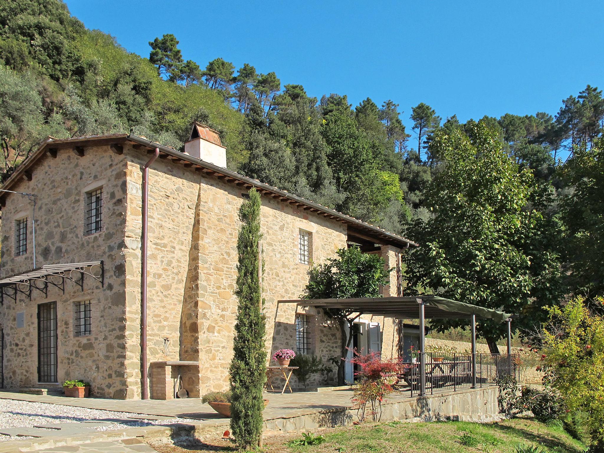
[[[57,382],[57,303],[38,305],[38,382]]]

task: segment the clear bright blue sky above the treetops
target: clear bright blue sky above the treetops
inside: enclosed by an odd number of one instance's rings
[[[164,33],[185,59],[275,71],[309,95],[388,98],[461,121],[545,111],[589,83],[604,88],[602,1],[202,2],[67,0],[88,28],[149,56]],[[413,139],[412,139],[413,140]]]

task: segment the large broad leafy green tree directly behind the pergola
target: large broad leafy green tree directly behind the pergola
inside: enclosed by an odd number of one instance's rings
[[[432,180],[411,237],[422,247],[406,255],[411,288],[454,300],[519,313],[515,327],[543,315],[539,307],[560,296],[559,260],[539,211],[527,210],[533,176],[502,150],[496,131],[470,121],[463,133],[439,132],[433,145],[446,161]],[[434,323],[440,330],[467,320]],[[503,323],[482,320],[478,333],[492,353],[506,333]]]

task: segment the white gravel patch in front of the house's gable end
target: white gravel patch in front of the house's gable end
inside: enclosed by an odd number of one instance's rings
[[[14,399],[0,399],[0,428],[33,427],[49,423],[86,422],[98,419],[126,419],[127,417],[145,417],[145,414],[126,412],[102,411],[60,404],[33,403]],[[96,431],[108,431],[132,426],[169,425],[172,423],[194,423],[199,420],[171,417],[167,420],[128,420],[127,422],[112,422],[110,426],[90,426]],[[88,425],[86,423],[85,425]],[[0,440],[10,440],[2,435]],[[19,437],[24,439],[24,437]]]

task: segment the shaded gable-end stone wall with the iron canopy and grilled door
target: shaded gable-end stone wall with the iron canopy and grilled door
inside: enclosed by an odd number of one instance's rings
[[[85,379],[96,396],[124,397],[124,243],[126,161],[108,147],[86,149],[76,156],[59,150],[43,156],[31,181],[15,191],[37,194],[36,266],[103,260],[104,288],[86,277],[84,291],[65,281],[65,294],[52,285],[48,297],[33,289],[31,300],[19,294],[16,303],[4,297],[0,324],[4,330],[4,384],[7,388],[39,387],[37,382],[37,305],[57,303],[57,381]],[[84,236],[85,192],[103,187],[103,231]],[[2,209],[2,277],[33,268],[33,204],[7,194]],[[14,255],[14,222],[28,217],[27,254]],[[91,300],[91,335],[75,336],[74,303]],[[16,313],[25,312],[25,327],[16,328]]]

